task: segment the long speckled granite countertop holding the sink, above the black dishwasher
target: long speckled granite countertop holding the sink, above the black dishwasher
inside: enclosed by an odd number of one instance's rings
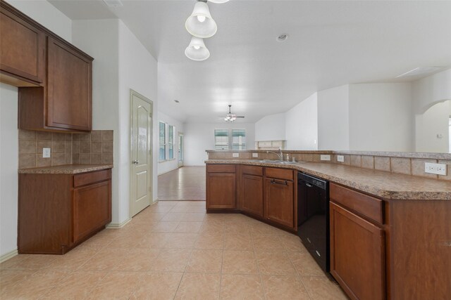
[[[451,200],[451,181],[325,162],[278,164],[250,159],[208,159],[206,164],[250,164],[296,169],[387,200]]]

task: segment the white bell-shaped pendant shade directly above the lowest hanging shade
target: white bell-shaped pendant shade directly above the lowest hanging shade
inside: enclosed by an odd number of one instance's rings
[[[216,22],[211,18],[209,6],[205,2],[197,1],[194,10],[185,22],[185,27],[193,37],[206,39],[213,37],[218,30]]]

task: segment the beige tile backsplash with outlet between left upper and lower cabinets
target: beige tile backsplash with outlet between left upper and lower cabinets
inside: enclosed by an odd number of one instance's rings
[[[49,158],[42,148],[51,148]],[[62,164],[113,164],[113,131],[56,133],[19,129],[19,168]]]

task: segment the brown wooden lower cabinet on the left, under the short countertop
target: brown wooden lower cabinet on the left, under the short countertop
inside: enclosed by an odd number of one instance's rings
[[[19,174],[19,253],[64,254],[109,222],[111,169]]]

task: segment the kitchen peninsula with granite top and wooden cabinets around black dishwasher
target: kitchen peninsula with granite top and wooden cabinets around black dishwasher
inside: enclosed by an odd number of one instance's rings
[[[298,171],[330,181],[330,273],[351,299],[450,294],[450,181],[320,161],[210,158],[206,209],[295,233]]]

